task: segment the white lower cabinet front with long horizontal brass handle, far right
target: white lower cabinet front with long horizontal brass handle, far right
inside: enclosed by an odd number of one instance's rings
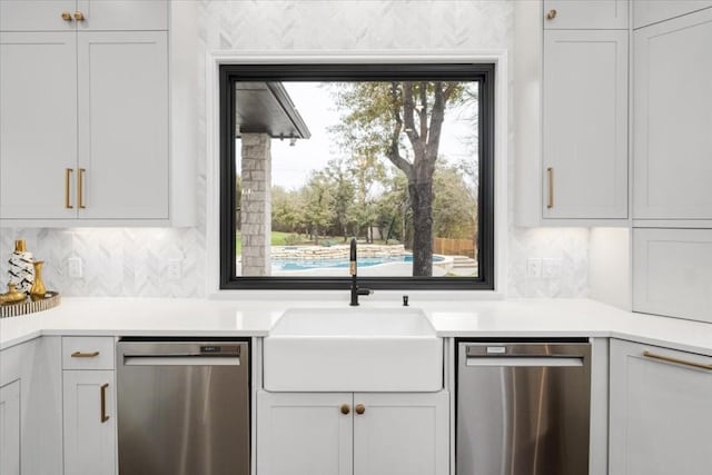
[[[712,357],[611,340],[611,475],[709,475]]]

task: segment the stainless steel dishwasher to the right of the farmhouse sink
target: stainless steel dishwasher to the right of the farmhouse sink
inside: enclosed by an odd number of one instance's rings
[[[589,343],[461,342],[457,358],[457,475],[589,473]]]

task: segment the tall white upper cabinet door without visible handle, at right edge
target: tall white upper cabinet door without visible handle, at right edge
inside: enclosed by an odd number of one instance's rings
[[[637,219],[712,219],[712,9],[634,32]]]

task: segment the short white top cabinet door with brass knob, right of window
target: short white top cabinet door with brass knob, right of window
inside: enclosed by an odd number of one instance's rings
[[[546,29],[627,29],[627,0],[544,0]]]

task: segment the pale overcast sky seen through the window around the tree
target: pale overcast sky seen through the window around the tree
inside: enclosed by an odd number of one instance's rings
[[[275,139],[271,142],[273,185],[290,190],[300,188],[312,170],[324,169],[332,158],[342,154],[333,133],[328,131],[330,126],[340,121],[340,112],[334,105],[329,88],[322,87],[319,82],[283,85],[312,132],[308,140],[297,140],[294,147],[289,146],[289,139]],[[472,136],[472,122],[466,118],[474,115],[474,109],[471,106],[446,115],[439,154],[447,161],[472,157],[464,141]]]

